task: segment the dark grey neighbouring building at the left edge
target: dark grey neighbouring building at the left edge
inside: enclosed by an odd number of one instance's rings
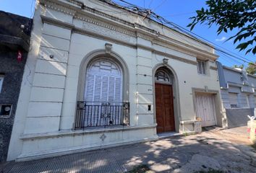
[[[0,11],[0,162],[7,159],[32,21]]]

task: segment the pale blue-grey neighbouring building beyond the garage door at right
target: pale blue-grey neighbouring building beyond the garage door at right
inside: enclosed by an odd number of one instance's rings
[[[222,66],[218,62],[221,101],[226,125],[229,128],[247,125],[249,116],[255,115],[256,76],[241,68]]]

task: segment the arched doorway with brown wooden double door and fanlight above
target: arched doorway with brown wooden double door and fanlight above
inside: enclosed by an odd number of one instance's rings
[[[175,131],[174,75],[166,67],[155,72],[155,117],[157,133]]]

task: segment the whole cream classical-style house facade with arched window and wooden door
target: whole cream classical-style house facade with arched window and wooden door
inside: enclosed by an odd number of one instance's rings
[[[82,2],[38,1],[9,160],[195,133],[197,117],[222,126],[213,48],[140,12]]]

